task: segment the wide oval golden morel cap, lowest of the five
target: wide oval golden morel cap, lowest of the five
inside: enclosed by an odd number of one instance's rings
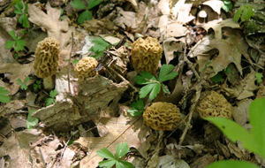
[[[172,130],[180,121],[180,111],[173,103],[157,102],[147,107],[143,118],[155,130]]]

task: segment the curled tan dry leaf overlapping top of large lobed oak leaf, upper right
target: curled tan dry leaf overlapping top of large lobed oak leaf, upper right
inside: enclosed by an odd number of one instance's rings
[[[233,19],[209,21],[207,24],[203,25],[202,27],[206,31],[208,31],[209,28],[213,28],[215,31],[216,39],[222,39],[223,27],[240,28],[239,23],[235,22]]]

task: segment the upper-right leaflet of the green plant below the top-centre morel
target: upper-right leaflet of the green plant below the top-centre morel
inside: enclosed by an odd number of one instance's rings
[[[160,82],[166,81],[166,80],[172,80],[178,76],[177,72],[172,72],[172,69],[174,68],[174,65],[162,65],[160,73],[159,73],[159,78],[158,80]]]

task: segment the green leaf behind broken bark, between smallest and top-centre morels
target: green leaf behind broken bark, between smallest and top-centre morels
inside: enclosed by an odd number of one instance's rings
[[[95,43],[95,45],[90,48],[90,51],[93,51],[95,55],[91,57],[95,57],[95,58],[102,57],[104,50],[110,47],[109,42],[106,42],[102,38],[99,38],[99,37],[95,38],[95,40],[92,42]]]

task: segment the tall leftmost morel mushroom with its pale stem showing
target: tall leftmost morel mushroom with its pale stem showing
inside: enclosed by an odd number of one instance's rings
[[[60,42],[52,37],[39,42],[35,50],[34,72],[43,79],[45,89],[54,88],[54,75],[57,73]]]

